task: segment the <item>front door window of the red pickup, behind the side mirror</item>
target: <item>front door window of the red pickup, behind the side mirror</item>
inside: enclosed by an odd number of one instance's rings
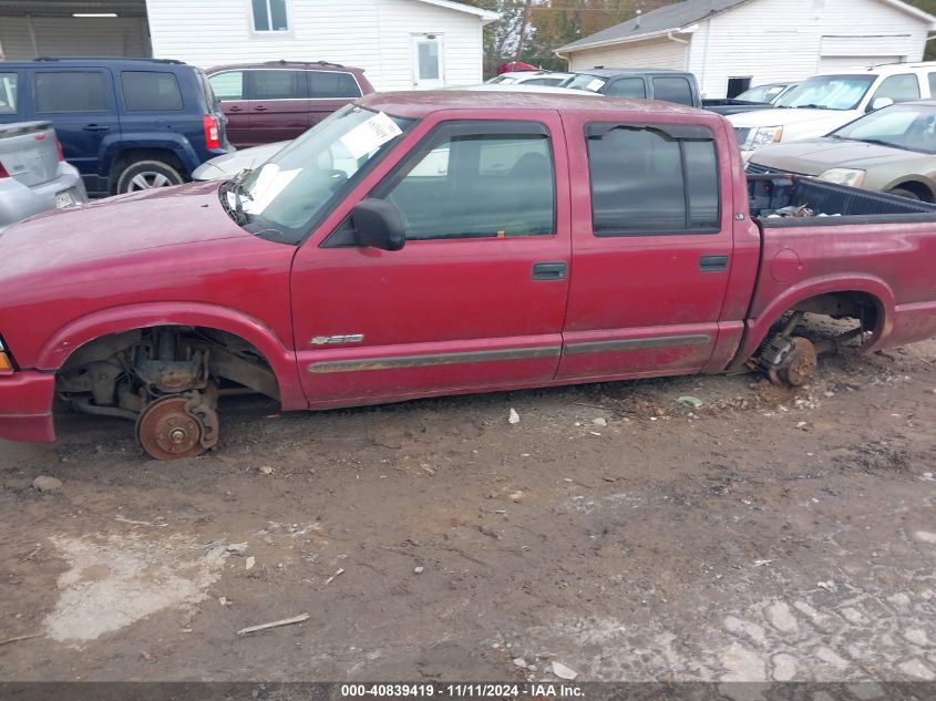
[[[548,132],[524,122],[443,125],[374,196],[397,206],[408,239],[554,234]]]

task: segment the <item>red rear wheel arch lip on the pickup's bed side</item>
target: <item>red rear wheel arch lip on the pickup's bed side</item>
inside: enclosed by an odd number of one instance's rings
[[[831,292],[864,292],[877,300],[878,328],[875,329],[875,346],[887,338],[894,323],[894,292],[881,278],[865,275],[836,275],[801,280],[771,301],[757,317],[745,321],[744,337],[738,354],[729,365],[737,370],[743,365],[767,338],[770,327],[798,303]]]

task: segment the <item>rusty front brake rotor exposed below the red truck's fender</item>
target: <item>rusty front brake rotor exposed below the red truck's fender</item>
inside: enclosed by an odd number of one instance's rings
[[[195,457],[202,445],[202,424],[186,411],[186,396],[166,396],[150,404],[136,421],[136,437],[156,460]]]

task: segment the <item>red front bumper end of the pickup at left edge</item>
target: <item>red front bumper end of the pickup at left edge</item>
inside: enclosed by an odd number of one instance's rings
[[[54,441],[54,393],[53,374],[25,371],[0,377],[0,439],[28,443]]]

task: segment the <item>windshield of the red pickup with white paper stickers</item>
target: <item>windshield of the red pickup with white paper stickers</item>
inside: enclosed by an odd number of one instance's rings
[[[414,120],[347,105],[218,190],[230,217],[270,240],[298,244]]]

